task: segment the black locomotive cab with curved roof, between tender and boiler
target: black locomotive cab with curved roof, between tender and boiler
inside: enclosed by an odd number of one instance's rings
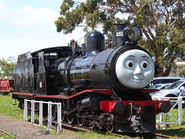
[[[71,47],[58,47],[53,49],[43,49],[33,53],[35,58],[34,64],[38,64],[35,71],[36,94],[57,95],[59,93],[57,87],[58,72],[53,66],[57,59],[62,59],[72,55]]]

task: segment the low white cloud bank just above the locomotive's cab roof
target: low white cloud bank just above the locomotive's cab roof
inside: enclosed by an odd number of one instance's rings
[[[0,58],[17,57],[26,52],[34,52],[48,47],[67,46],[72,39],[83,43],[83,36],[84,33],[81,28],[67,35],[57,32],[43,33],[39,30],[29,33],[28,30],[28,32],[21,35],[10,35],[8,38],[6,36],[0,36],[0,46],[3,46],[0,52]]]

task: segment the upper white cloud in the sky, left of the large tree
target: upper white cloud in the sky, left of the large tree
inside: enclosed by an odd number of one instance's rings
[[[31,5],[12,7],[10,4],[0,0],[0,20],[17,26],[35,26],[54,24],[59,16],[58,9],[35,8]]]

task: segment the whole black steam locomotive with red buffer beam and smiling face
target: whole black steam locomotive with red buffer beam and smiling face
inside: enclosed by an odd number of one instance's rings
[[[155,115],[169,103],[153,101],[144,87],[154,76],[151,56],[137,41],[141,31],[116,25],[112,47],[89,33],[86,49],[53,47],[18,57],[13,98],[62,103],[63,119],[108,132],[155,134]]]

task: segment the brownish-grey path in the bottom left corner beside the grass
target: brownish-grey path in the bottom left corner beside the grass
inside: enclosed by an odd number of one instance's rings
[[[63,130],[57,135],[46,134],[42,127],[31,123],[10,119],[0,115],[0,129],[16,136],[16,139],[78,139],[72,131]]]

